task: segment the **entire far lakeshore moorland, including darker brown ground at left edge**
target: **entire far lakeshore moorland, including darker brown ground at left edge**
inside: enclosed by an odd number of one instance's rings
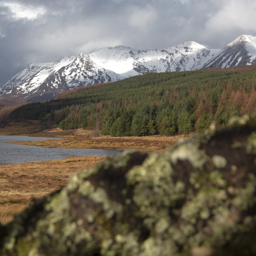
[[[34,142],[11,142],[13,144],[23,144],[28,146],[40,146],[44,148],[76,148],[76,149],[106,149],[106,150],[137,150],[140,152],[162,152],[168,146],[184,138],[184,136],[143,136],[143,137],[111,137],[92,136],[92,130],[82,128],[74,130],[61,130],[54,128],[43,132],[36,131],[36,121],[6,122],[0,127],[0,135],[8,136],[33,136],[62,138],[62,140],[40,140]]]

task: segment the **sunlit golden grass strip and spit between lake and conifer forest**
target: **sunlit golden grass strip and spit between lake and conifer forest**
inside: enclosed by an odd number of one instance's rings
[[[32,142],[12,142],[44,148],[93,148],[108,150],[135,149],[141,152],[156,152],[166,150],[168,146],[180,139],[175,136],[144,136],[144,137],[92,137],[91,132],[83,129],[62,131],[59,128],[40,132],[37,136],[59,137],[63,140],[40,140]],[[184,137],[184,136],[182,136]]]

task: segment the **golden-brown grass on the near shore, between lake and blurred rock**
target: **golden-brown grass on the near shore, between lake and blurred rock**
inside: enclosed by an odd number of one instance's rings
[[[0,224],[12,221],[34,199],[66,186],[71,173],[90,168],[106,156],[0,165]]]

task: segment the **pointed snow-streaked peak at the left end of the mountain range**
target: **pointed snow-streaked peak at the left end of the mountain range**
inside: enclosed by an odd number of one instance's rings
[[[47,68],[6,92],[9,98],[22,96],[26,101],[49,100],[58,92],[123,79],[111,70],[98,67],[88,55],[60,58]],[[4,96],[5,96],[4,95]]]

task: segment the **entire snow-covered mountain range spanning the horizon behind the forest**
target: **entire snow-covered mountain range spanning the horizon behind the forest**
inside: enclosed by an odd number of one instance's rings
[[[222,49],[186,42],[164,49],[106,47],[91,54],[31,63],[0,88],[1,98],[43,101],[58,92],[149,72],[197,70],[256,63],[256,37],[242,35]]]

